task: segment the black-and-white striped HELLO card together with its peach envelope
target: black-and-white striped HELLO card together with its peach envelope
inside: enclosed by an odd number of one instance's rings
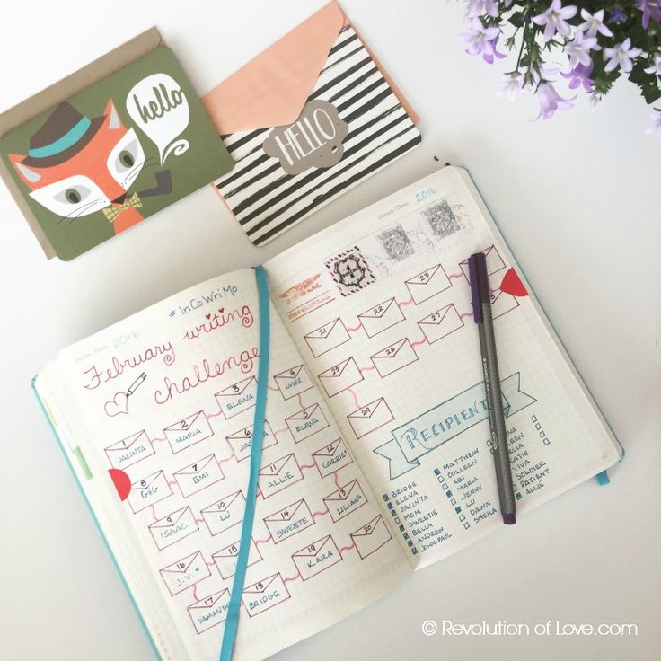
[[[335,2],[202,102],[236,163],[216,189],[256,245],[420,143],[418,117]]]

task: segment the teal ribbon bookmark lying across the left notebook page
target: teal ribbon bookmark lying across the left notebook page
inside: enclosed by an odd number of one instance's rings
[[[257,400],[255,401],[254,427],[251,443],[251,468],[248,478],[248,490],[245,497],[245,514],[241,527],[241,542],[236,557],[236,573],[232,584],[230,604],[227,608],[227,620],[223,632],[223,645],[220,648],[220,661],[231,661],[234,650],[236,630],[239,628],[239,613],[241,597],[245,584],[245,572],[248,567],[248,551],[251,548],[252,523],[255,519],[255,502],[257,500],[257,478],[260,471],[261,445],[264,440],[264,418],[266,415],[267,385],[269,383],[269,344],[270,344],[270,316],[269,316],[269,287],[266,283],[266,272],[263,267],[257,266],[257,294],[260,308],[260,361],[257,372]]]

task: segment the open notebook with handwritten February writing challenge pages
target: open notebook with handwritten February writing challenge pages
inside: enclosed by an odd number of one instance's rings
[[[502,525],[466,267],[480,250],[519,516],[620,459],[467,173],[402,189],[265,265],[266,436],[235,658],[329,627]],[[235,271],[66,348],[35,380],[163,659],[218,655],[257,310],[253,271]]]

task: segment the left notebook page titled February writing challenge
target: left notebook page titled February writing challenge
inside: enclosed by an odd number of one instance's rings
[[[84,457],[84,490],[163,658],[214,659],[220,649],[248,483],[257,314],[251,269],[215,278],[65,349],[50,379],[68,453]],[[330,626],[410,574],[271,316],[240,660]]]

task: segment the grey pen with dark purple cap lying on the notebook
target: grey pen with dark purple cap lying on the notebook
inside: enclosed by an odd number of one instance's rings
[[[491,430],[491,449],[496,466],[498,498],[503,522],[516,524],[516,501],[512,485],[512,469],[509,465],[507,448],[507,429],[503,415],[503,398],[500,394],[500,373],[496,353],[496,337],[493,332],[493,317],[489,301],[489,277],[487,276],[487,258],[483,252],[476,252],[468,260],[471,278],[472,312],[480,334],[480,353],[482,356],[482,374],[487,391],[489,410],[489,428]]]

